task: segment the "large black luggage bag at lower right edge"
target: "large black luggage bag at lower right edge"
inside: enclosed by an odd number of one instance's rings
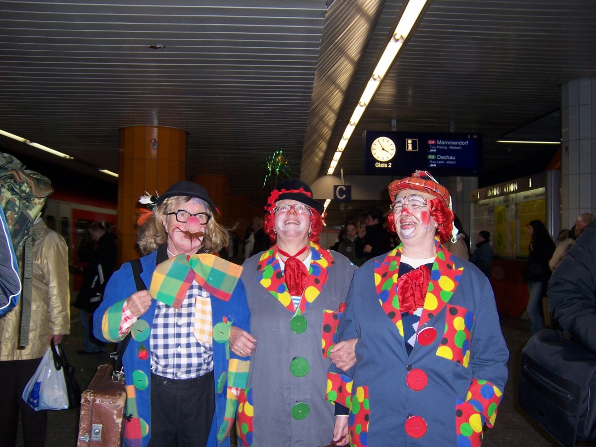
[[[520,406],[561,445],[596,441],[596,355],[558,331],[534,334],[522,350]]]

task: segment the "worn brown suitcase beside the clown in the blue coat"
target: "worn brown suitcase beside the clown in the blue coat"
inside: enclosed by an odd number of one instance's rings
[[[113,380],[114,367],[101,365],[80,398],[77,447],[115,447],[122,443],[125,384]]]

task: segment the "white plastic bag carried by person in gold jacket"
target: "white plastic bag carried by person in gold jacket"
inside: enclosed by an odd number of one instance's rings
[[[69,408],[69,396],[62,371],[54,365],[52,350],[48,347],[38,369],[23,390],[23,401],[35,411]]]

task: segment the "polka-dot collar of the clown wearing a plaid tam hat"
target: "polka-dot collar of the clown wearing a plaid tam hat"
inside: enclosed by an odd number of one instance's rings
[[[429,290],[424,299],[424,308],[420,317],[419,327],[422,327],[429,319],[439,313],[449,302],[460,283],[461,274],[464,268],[455,268],[451,260],[451,253],[435,238],[434,242],[437,253],[434,257],[433,268],[430,271]],[[375,261],[374,279],[377,288],[378,300],[383,311],[398,327],[403,337],[403,322],[399,309],[398,299],[398,272],[399,263],[402,257],[402,244],[381,261]]]

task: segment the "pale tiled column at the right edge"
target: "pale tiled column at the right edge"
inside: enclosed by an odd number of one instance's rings
[[[596,210],[596,77],[561,86],[561,227]]]

